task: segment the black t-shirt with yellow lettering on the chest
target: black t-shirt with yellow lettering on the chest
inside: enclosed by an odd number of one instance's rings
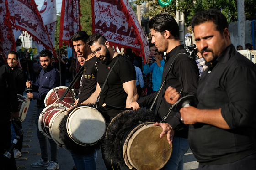
[[[84,72],[80,80],[78,104],[81,104],[87,100],[96,90],[99,63],[100,62],[96,56],[93,56],[91,59],[85,62]]]

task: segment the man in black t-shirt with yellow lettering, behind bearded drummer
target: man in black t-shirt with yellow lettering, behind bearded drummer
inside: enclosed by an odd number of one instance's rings
[[[96,90],[97,86],[97,72],[99,60],[91,52],[90,46],[87,44],[88,34],[85,31],[78,31],[70,40],[76,52],[77,60],[81,66],[84,65],[84,72],[80,80],[80,87],[78,92],[77,105],[80,105],[87,100],[91,94]],[[77,170],[96,170],[97,151],[94,154],[86,154],[84,156],[76,155],[71,152],[75,167]]]

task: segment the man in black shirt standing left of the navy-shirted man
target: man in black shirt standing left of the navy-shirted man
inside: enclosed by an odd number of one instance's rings
[[[21,69],[21,67],[18,66],[18,58],[19,58],[19,54],[17,52],[11,51],[8,53],[7,63],[11,67],[14,75],[17,94],[20,94],[22,96],[26,88],[27,74]],[[17,121],[16,124],[22,129],[22,124],[20,121]],[[13,128],[15,130],[15,133],[19,134],[19,129],[16,126],[13,126]],[[15,149],[13,151],[14,158],[19,158],[21,156],[22,146],[23,146],[23,134],[21,135],[21,138],[16,143]]]

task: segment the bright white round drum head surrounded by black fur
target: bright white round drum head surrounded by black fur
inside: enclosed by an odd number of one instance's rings
[[[69,115],[67,131],[70,138],[77,144],[94,144],[105,134],[105,119],[94,108],[77,107]]]

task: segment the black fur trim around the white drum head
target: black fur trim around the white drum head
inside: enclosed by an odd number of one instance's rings
[[[64,147],[67,148],[69,151],[71,151],[72,153],[75,153],[76,155],[80,155],[80,156],[86,156],[88,154],[92,154],[94,153],[95,150],[100,149],[100,145],[101,145],[101,141],[98,142],[97,144],[94,144],[92,146],[81,146],[79,144],[76,144],[70,137],[69,134],[67,133],[67,119],[69,117],[69,114],[77,107],[80,106],[89,106],[92,107],[93,104],[89,104],[89,105],[79,105],[79,106],[75,106],[73,109],[71,109],[69,111],[69,113],[67,115],[64,116],[64,118],[61,120],[60,124],[59,124],[59,138],[62,140],[62,142],[64,143]],[[106,116],[106,113],[104,113],[103,111],[101,111],[101,108],[97,108],[97,110],[104,116]],[[104,135],[105,136],[105,135]]]

